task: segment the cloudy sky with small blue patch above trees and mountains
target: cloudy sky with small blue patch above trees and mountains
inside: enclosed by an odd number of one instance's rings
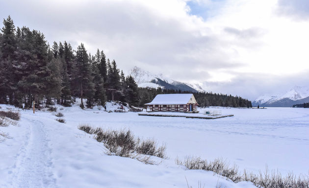
[[[8,15],[50,44],[103,49],[125,72],[249,99],[309,86],[308,0],[0,0]]]

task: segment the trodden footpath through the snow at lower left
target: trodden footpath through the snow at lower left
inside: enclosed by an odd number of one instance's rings
[[[55,179],[49,170],[52,166],[51,149],[39,120],[29,121],[30,135],[22,146],[15,165],[12,186],[14,188],[55,188]]]

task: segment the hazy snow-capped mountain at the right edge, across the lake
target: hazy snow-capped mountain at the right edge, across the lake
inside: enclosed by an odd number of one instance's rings
[[[253,103],[253,106],[290,107],[293,104],[309,102],[309,87],[294,86],[284,94],[263,94]]]

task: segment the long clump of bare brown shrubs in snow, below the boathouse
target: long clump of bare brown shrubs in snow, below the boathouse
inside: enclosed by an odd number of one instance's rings
[[[166,156],[165,144],[158,147],[155,140],[135,139],[130,130],[103,130],[102,128],[92,128],[88,124],[79,125],[78,129],[89,134],[95,134],[94,138],[104,144],[109,155],[129,157],[146,164],[152,163],[150,156],[159,158]]]

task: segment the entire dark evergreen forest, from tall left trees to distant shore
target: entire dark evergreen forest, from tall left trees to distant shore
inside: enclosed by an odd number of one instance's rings
[[[87,53],[83,44],[76,50],[70,43],[53,42],[28,27],[15,28],[10,16],[0,29],[0,103],[31,107],[35,101],[52,105],[54,101],[71,106],[76,98],[91,108],[107,100],[128,102],[143,107],[156,94],[191,93],[162,88],[138,88],[132,76],[125,76],[115,60],[106,58],[103,50]],[[202,106],[252,107],[251,101],[238,96],[194,93]],[[86,99],[86,100],[85,100]]]

